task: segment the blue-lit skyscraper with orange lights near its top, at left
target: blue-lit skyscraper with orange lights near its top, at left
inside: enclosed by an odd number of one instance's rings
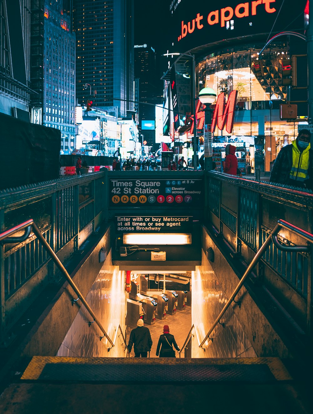
[[[68,2],[31,0],[32,107],[42,123],[61,130],[61,150],[75,147],[75,34]],[[65,9],[63,8],[65,7]]]

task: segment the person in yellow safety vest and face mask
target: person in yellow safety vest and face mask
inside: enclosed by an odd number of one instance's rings
[[[303,129],[291,144],[283,147],[275,159],[270,182],[313,188],[313,151],[311,132]]]

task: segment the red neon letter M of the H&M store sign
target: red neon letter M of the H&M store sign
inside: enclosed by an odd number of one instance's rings
[[[226,131],[231,134],[234,125],[235,106],[237,102],[238,91],[230,92],[225,107],[225,94],[221,93],[217,96],[215,111],[212,120],[212,132],[214,132],[216,123],[220,131],[223,130],[226,123]],[[227,122],[226,122],[227,117]]]

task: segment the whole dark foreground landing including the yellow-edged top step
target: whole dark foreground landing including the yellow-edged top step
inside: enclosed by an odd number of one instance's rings
[[[309,413],[303,385],[278,358],[35,356],[2,393],[0,412]]]

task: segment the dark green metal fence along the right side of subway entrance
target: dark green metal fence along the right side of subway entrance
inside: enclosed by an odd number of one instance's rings
[[[223,236],[237,257],[243,258],[247,264],[278,219],[312,232],[312,212],[312,193],[268,182],[208,173],[207,223]],[[285,232],[280,237],[280,243],[292,246],[303,244],[303,240]],[[294,309],[295,314],[301,310],[304,312],[307,298],[311,295],[311,291],[308,291],[311,256],[308,253],[283,252],[271,243],[256,272],[263,283],[279,296],[279,300],[292,302],[290,295],[298,295],[298,299],[293,301],[298,302],[296,306],[299,306]]]

